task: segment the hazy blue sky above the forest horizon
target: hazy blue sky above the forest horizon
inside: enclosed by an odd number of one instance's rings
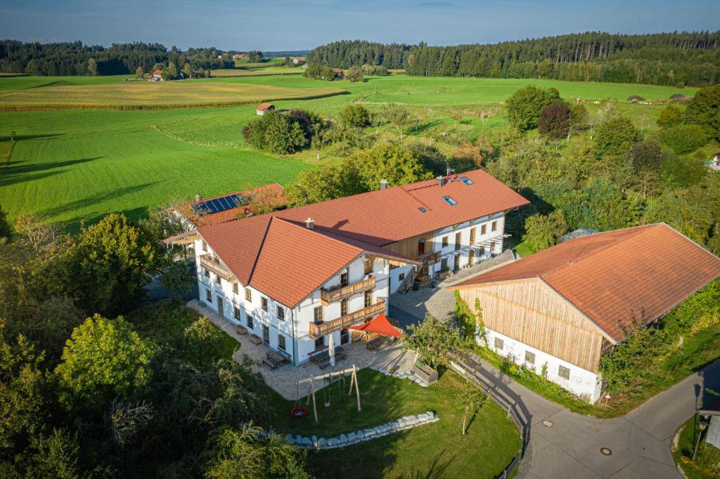
[[[349,38],[430,45],[600,30],[718,29],[719,0],[0,0],[0,37],[295,50]]]

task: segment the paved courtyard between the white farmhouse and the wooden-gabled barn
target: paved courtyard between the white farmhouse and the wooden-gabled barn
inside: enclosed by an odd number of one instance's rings
[[[452,286],[472,276],[499,268],[505,263],[514,260],[515,255],[513,255],[513,252],[505,250],[501,255],[475,263],[470,268],[459,270],[458,273],[446,278],[441,283],[435,283],[435,287],[426,286],[418,291],[392,294],[389,301],[390,306],[391,308],[400,309],[417,319],[423,319],[427,313],[432,314],[437,319],[450,319],[455,310],[455,297],[452,291],[446,289],[447,286]]]

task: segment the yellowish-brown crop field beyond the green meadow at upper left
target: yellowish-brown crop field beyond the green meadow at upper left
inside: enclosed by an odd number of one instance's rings
[[[212,80],[132,81],[87,86],[45,86],[0,93],[1,109],[143,109],[233,106],[343,93],[339,88],[248,85]]]

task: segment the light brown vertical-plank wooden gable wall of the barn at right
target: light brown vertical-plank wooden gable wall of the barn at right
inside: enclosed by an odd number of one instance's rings
[[[478,285],[459,293],[471,308],[480,299],[486,327],[598,372],[603,334],[541,280]]]

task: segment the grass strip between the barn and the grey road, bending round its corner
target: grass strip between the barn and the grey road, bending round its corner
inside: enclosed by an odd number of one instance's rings
[[[518,383],[570,411],[602,418],[618,417],[629,413],[653,396],[657,396],[697,370],[720,359],[720,324],[685,337],[683,347],[672,352],[654,373],[645,378],[642,388],[633,393],[613,394],[609,401],[601,399],[594,405],[576,398],[555,383],[542,380],[537,374],[520,370],[514,363],[508,365],[495,352],[480,347],[476,352],[490,364],[512,376]]]

